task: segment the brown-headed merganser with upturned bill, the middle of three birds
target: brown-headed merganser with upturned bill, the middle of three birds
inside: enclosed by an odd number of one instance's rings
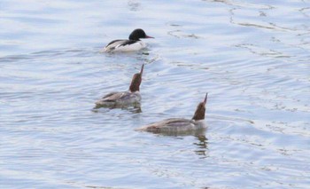
[[[136,73],[132,77],[132,81],[128,91],[111,92],[96,102],[98,106],[131,106],[140,103],[140,84],[142,82],[143,67],[140,73]]]

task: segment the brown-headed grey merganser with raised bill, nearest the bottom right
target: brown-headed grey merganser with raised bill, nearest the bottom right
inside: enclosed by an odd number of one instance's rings
[[[208,93],[205,94],[205,100],[198,104],[196,112],[193,118],[191,118],[191,120],[182,118],[170,118],[161,122],[151,123],[136,130],[148,131],[153,133],[178,133],[204,129],[206,128],[204,119],[205,103],[207,96]]]

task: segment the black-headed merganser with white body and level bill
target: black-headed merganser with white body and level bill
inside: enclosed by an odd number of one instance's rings
[[[140,41],[142,38],[154,38],[145,34],[143,29],[135,29],[129,35],[129,39],[117,39],[105,46],[105,52],[112,51],[139,51],[140,49],[146,46],[143,41]]]

